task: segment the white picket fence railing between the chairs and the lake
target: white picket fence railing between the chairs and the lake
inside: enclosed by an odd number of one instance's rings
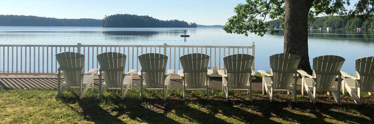
[[[251,50],[251,51],[250,51]],[[230,54],[255,56],[254,42],[251,46],[210,45],[0,45],[0,75],[31,74],[52,75],[58,69],[55,54],[71,51],[85,55],[85,70],[99,68],[96,55],[103,52],[118,52],[127,55],[125,70],[140,70],[138,55],[160,53],[169,56],[168,69],[182,69],[179,57],[189,53],[210,56],[209,68],[223,69],[223,57]],[[254,64],[252,69],[254,69]]]

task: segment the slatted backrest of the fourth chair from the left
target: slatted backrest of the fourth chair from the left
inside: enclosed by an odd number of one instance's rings
[[[179,57],[184,73],[186,86],[203,88],[206,86],[209,55],[192,53]]]

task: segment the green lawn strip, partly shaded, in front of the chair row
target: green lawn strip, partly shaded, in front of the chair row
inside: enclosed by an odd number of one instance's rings
[[[147,91],[143,101],[138,100],[139,89],[129,90],[124,100],[116,90],[97,99],[97,89],[90,89],[82,100],[77,89],[66,90],[56,100],[56,89],[0,88],[0,123],[373,123],[374,119],[374,96],[366,93],[362,105],[346,94],[339,106],[325,93],[313,105],[307,95],[298,95],[295,104],[285,92],[269,102],[255,91],[250,102],[245,91],[235,91],[226,103],[220,90],[211,90],[210,101],[204,90],[188,91],[186,101],[182,90],[169,91],[163,102],[157,90]]]

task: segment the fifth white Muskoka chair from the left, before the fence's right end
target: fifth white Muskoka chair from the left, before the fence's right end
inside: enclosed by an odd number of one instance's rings
[[[229,101],[229,90],[247,90],[249,100],[252,101],[252,79],[255,72],[251,70],[254,56],[247,54],[228,55],[223,58],[224,70],[218,70],[222,76],[222,91],[225,94],[226,102]]]

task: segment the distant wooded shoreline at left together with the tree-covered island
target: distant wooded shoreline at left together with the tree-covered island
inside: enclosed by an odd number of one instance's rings
[[[24,15],[0,15],[0,26],[102,26],[126,28],[196,28],[196,23],[159,20],[150,16],[116,14],[104,19],[57,19]]]

